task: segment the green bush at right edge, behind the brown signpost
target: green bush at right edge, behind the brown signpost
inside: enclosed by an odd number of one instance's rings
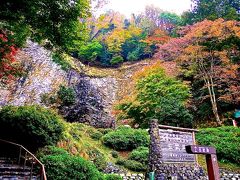
[[[218,159],[240,164],[240,128],[218,127],[201,129],[196,135],[199,144],[213,146]]]

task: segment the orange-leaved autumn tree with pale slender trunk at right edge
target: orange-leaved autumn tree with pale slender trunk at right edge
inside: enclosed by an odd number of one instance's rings
[[[160,46],[156,55],[170,60],[177,59],[184,77],[202,81],[203,86],[198,86],[202,93],[196,98],[210,101],[216,122],[221,125],[219,102],[237,103],[240,96],[237,91],[240,87],[239,22],[205,20],[191,27],[187,26],[184,33],[183,37]],[[175,55],[171,54],[169,57],[169,53],[174,54],[174,48]]]

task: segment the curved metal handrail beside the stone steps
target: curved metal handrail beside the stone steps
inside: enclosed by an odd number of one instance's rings
[[[21,150],[25,150],[26,153],[28,153],[29,155],[32,156],[32,158],[35,160],[35,162],[37,162],[40,166],[41,166],[41,175],[42,175],[42,179],[43,180],[47,180],[47,176],[46,176],[46,172],[45,172],[45,167],[44,165],[36,158],[36,156],[34,156],[34,154],[32,154],[30,151],[28,151],[24,146],[22,146],[21,144],[17,144],[17,143],[14,143],[14,142],[11,142],[11,141],[6,141],[6,140],[3,140],[3,139],[0,139],[1,142],[4,142],[4,143],[7,143],[7,144],[11,144],[11,145],[14,145],[14,146],[18,146],[20,148],[20,156],[21,156]],[[19,161],[20,161],[20,156],[19,156]],[[25,162],[26,162],[26,159],[25,159]],[[24,164],[25,164],[24,162]],[[31,172],[32,172],[32,169],[31,169]]]

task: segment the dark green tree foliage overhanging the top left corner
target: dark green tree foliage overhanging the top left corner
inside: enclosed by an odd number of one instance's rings
[[[26,40],[31,32],[36,40],[47,39],[73,51],[85,36],[80,18],[89,15],[89,8],[87,0],[8,0],[1,2],[0,25],[14,32],[16,39]]]

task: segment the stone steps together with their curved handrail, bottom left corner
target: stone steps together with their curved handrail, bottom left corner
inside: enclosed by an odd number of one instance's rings
[[[0,180],[47,180],[44,165],[20,144],[0,139]]]

